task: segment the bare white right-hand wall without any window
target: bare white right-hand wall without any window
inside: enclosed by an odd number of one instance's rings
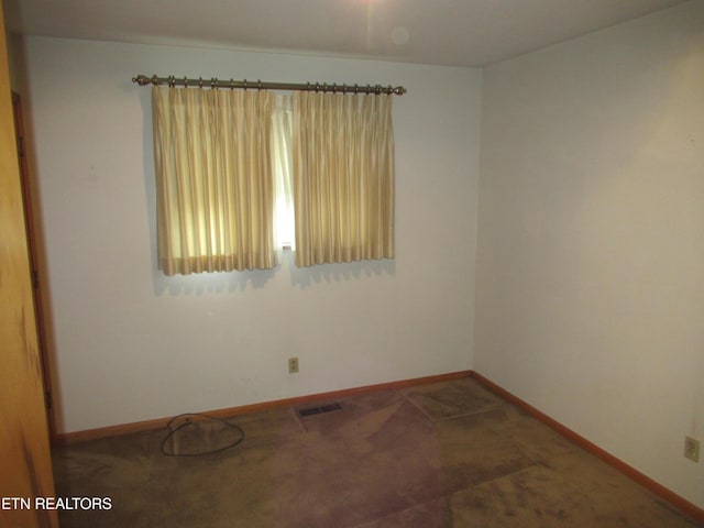
[[[704,2],[484,70],[473,367],[704,507]]]

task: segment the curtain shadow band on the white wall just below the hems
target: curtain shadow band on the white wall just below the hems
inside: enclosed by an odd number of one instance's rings
[[[263,288],[276,275],[288,270],[290,285],[306,288],[312,284],[342,280],[359,280],[365,277],[396,275],[396,261],[360,261],[345,264],[322,264],[312,267],[296,267],[294,255],[284,252],[280,264],[274,270],[254,270],[248,272],[198,273],[193,275],[175,275],[168,277],[156,267],[153,270],[154,293],[162,295],[202,295],[218,293],[244,292],[250,288]]]

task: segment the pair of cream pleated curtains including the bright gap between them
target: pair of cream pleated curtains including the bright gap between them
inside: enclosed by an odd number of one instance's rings
[[[160,270],[268,270],[287,239],[297,266],[393,257],[391,107],[391,96],[153,87]]]

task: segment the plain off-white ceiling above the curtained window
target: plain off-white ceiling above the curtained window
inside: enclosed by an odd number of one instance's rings
[[[452,66],[484,66],[679,3],[683,0],[3,0],[10,33]]]

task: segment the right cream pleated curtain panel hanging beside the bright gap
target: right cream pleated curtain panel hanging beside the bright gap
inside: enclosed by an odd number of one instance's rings
[[[392,258],[392,97],[292,97],[296,265]]]

